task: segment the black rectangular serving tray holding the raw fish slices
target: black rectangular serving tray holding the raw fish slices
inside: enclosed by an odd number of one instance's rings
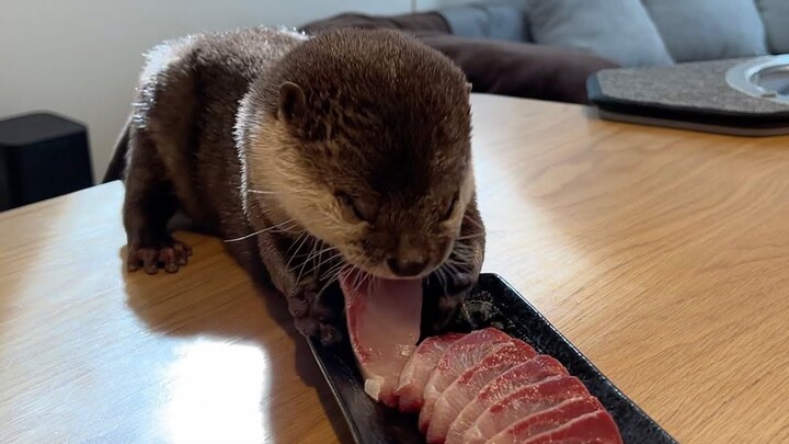
[[[491,326],[561,362],[605,406],[619,425],[625,443],[676,444],[510,284],[496,274],[483,273],[461,314],[447,330],[467,332]],[[416,426],[416,414],[399,413],[364,392],[347,341],[331,348],[324,348],[316,340],[309,343],[356,443],[424,443]]]

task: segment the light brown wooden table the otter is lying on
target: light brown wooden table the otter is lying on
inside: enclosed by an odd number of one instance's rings
[[[683,443],[789,442],[789,138],[473,98],[502,274]],[[122,185],[0,215],[0,442],[348,434],[276,295],[216,239],[126,274]]]

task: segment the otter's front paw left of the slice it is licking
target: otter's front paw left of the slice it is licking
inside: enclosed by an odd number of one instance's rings
[[[323,345],[333,345],[342,340],[338,328],[340,312],[330,304],[328,295],[319,292],[317,282],[296,285],[287,296],[288,309],[301,334],[319,338]]]

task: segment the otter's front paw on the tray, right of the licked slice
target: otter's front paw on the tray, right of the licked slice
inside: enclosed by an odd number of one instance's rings
[[[432,276],[422,310],[422,331],[427,335],[441,333],[457,316],[477,278],[478,275],[471,273],[454,273],[442,280]]]

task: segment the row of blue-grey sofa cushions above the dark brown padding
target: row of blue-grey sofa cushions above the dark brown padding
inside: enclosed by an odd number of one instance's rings
[[[456,35],[650,66],[789,53],[787,0],[499,0],[437,11]]]

